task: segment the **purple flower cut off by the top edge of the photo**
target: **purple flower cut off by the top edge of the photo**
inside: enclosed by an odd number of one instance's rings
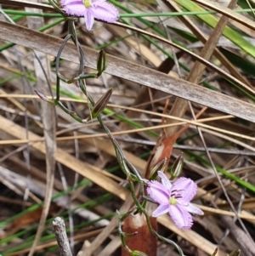
[[[106,0],[60,0],[68,15],[84,16],[88,31],[92,29],[94,18],[113,23],[119,18],[119,11]]]

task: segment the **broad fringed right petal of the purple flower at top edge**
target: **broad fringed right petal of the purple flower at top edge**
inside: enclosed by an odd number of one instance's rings
[[[119,11],[116,7],[108,2],[96,1],[91,8],[94,18],[105,20],[106,22],[113,23],[119,19]]]

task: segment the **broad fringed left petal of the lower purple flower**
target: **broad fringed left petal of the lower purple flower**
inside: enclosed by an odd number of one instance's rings
[[[147,193],[159,204],[169,204],[169,193],[167,189],[156,180],[148,183]]]

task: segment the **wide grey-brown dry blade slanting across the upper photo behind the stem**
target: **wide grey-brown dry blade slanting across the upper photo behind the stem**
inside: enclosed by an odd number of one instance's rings
[[[12,31],[12,33],[10,34],[9,31]],[[62,43],[62,40],[59,38],[31,31],[24,27],[13,26],[3,21],[0,21],[0,38],[54,56],[56,56],[59,45]],[[27,42],[27,38],[30,38],[29,42]],[[48,43],[47,47],[45,47],[44,42]],[[86,52],[87,58],[86,65],[95,68],[97,52],[85,47],[84,52]],[[78,63],[77,49],[71,44],[68,44],[61,57],[65,60]],[[217,92],[213,92],[214,97],[212,97],[212,91],[207,88],[201,88],[194,83],[169,77],[144,66],[109,56],[109,65],[106,72],[116,77],[139,82],[147,87],[156,88],[165,93],[184,98],[185,100],[229,113],[235,117],[255,122],[254,106],[252,104]]]

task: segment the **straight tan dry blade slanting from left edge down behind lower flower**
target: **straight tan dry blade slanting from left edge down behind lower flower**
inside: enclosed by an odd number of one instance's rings
[[[14,124],[14,122],[11,122],[3,117],[0,117],[0,122],[2,124],[0,129],[5,133],[11,135],[15,134],[15,136],[20,139],[26,138],[26,130],[24,128],[20,127],[17,124]],[[31,139],[36,139],[38,137],[36,134],[33,134],[31,132],[29,132],[28,135]],[[46,153],[45,145],[41,142],[33,143],[31,144],[31,147],[37,151],[42,152],[43,154]],[[107,178],[105,175],[101,174],[98,168],[88,165],[85,162],[81,162],[77,160],[74,156],[71,156],[65,151],[62,151],[58,148],[56,149],[55,159],[56,161],[64,164],[66,167],[71,168],[78,174],[81,174],[82,176],[90,179],[95,184],[105,189],[105,191],[111,192],[113,195],[120,197],[124,201],[127,200],[129,192],[123,189],[121,186],[117,185],[111,179]],[[214,250],[215,246],[212,244],[212,242],[207,241],[207,239],[196,234],[193,230],[179,230],[176,225],[173,225],[172,221],[167,218],[167,216],[159,218],[158,221],[162,225],[167,226],[167,228],[169,228],[170,230],[173,230],[173,232],[178,234],[178,236],[182,236],[187,241],[193,243],[196,247],[201,248],[201,250],[207,253],[212,253],[212,251]],[[106,229],[108,230],[109,226],[107,226]],[[100,242],[102,241],[100,240]],[[219,251],[218,256],[225,255],[223,252]]]

